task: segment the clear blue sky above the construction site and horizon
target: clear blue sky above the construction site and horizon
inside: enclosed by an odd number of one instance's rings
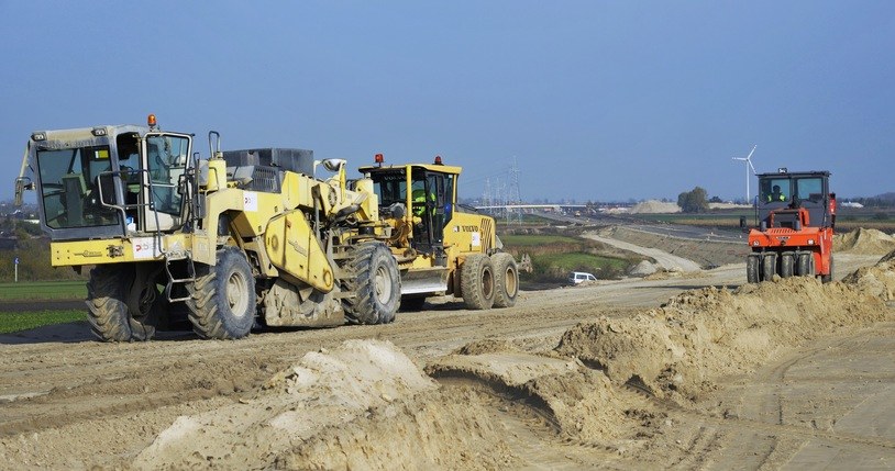
[[[895,191],[895,2],[0,0],[0,162],[35,130],[145,122],[208,155],[464,167],[463,197],[742,198],[759,171]],[[754,181],[752,182],[754,191]]]

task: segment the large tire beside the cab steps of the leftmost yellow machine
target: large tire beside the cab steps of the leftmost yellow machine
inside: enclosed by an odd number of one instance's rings
[[[242,250],[218,250],[214,266],[196,265],[189,287],[189,322],[202,338],[235,339],[248,335],[255,324],[255,279]]]

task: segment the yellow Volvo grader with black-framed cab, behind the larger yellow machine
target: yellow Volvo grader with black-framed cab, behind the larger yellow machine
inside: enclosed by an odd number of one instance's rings
[[[457,205],[462,169],[434,164],[360,168],[373,181],[379,215],[391,227],[389,248],[401,272],[401,307],[419,310],[428,296],[453,294],[467,307],[510,307],[519,267],[502,251],[493,217]]]

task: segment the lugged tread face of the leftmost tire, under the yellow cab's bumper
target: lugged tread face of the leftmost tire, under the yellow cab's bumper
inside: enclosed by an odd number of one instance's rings
[[[87,281],[87,321],[90,330],[103,341],[133,339],[124,288],[130,280],[126,266],[98,265]]]

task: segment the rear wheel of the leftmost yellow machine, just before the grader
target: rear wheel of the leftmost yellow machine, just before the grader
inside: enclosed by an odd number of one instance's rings
[[[352,247],[342,267],[349,278],[342,291],[353,294],[342,300],[345,319],[352,324],[388,324],[401,305],[401,274],[391,250],[379,242]]]

